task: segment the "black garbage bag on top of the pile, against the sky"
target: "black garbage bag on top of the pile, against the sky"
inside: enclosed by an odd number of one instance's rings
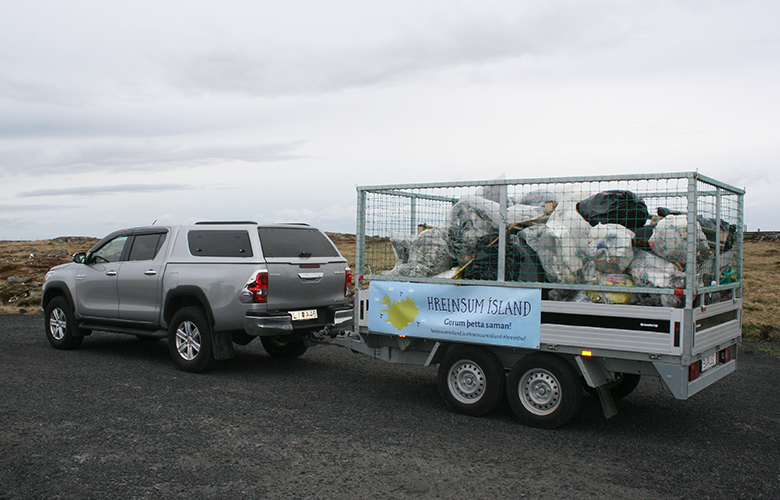
[[[647,205],[631,191],[602,191],[577,203],[577,212],[591,226],[620,224],[634,232],[647,222]]]

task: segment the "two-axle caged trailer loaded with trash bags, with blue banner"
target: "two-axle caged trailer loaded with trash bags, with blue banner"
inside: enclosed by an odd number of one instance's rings
[[[556,428],[642,377],[736,369],[744,191],[698,172],[358,187],[354,323],[330,342],[438,366],[454,411]]]

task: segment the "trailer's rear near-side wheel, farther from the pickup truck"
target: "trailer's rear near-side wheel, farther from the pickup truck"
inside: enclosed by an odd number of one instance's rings
[[[520,359],[507,378],[509,406],[526,425],[555,429],[580,410],[582,384],[574,367],[559,356],[530,354]]]

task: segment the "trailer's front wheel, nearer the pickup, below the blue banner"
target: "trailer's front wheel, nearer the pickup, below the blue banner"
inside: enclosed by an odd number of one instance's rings
[[[506,374],[501,361],[489,350],[458,345],[447,351],[439,364],[438,385],[450,408],[478,417],[503,401]]]

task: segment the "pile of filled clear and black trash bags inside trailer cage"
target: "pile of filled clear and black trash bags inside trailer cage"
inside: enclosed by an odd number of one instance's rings
[[[615,287],[684,288],[688,217],[665,208],[651,217],[635,193],[562,195],[536,191],[509,200],[502,219],[489,192],[464,196],[441,227],[390,234],[390,276],[496,280],[498,234],[507,231],[505,280]],[[551,209],[552,208],[552,209]],[[730,279],[736,228],[699,217],[694,224],[697,286]],[[720,230],[721,265],[715,264]],[[727,276],[728,278],[723,278]],[[681,295],[552,289],[553,300],[683,307]]]

